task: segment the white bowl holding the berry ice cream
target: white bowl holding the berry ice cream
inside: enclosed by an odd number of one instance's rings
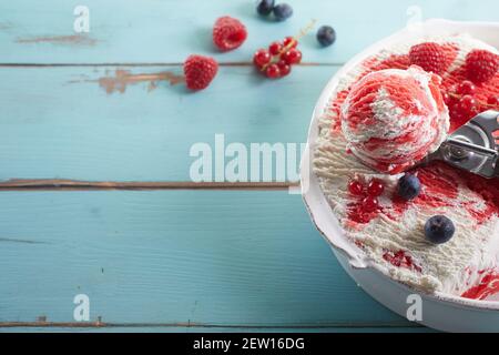
[[[499,48],[499,23],[454,22],[434,19],[406,28],[373,44],[348,61],[327,83],[317,101],[308,131],[307,148],[302,160],[302,194],[317,230],[332,245],[339,263],[357,284],[375,300],[404,317],[410,306],[407,302],[408,296],[418,294],[418,292],[385,276],[377,270],[376,264],[369,262],[364,253],[346,239],[313,173],[310,152],[314,151],[314,142],[318,134],[318,118],[324,112],[339,78],[353,67],[390,43],[417,39],[425,34],[451,36],[456,33],[469,33]],[[499,300],[475,301],[447,294],[420,294],[420,296],[422,300],[422,321],[420,323],[424,325],[446,332],[499,332]]]

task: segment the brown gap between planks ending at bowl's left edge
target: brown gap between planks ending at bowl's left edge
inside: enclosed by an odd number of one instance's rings
[[[63,179],[11,179],[0,182],[0,191],[89,191],[89,190],[288,190],[298,182],[118,182]]]

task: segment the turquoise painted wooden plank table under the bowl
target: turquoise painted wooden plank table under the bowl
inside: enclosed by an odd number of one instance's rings
[[[74,1],[0,2],[0,332],[427,331],[349,280],[294,181],[191,181],[191,146],[217,133],[303,143],[328,79],[415,3],[288,2],[276,23],[252,0],[85,0],[84,34]],[[499,20],[495,0],[418,6],[424,19]],[[249,32],[224,54],[211,43],[223,14]],[[310,19],[335,27],[335,45],[309,34],[289,77],[258,77],[253,52]],[[221,63],[203,92],[179,82],[191,53]]]

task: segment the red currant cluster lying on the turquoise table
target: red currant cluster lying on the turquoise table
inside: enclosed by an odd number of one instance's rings
[[[267,78],[286,77],[292,65],[302,61],[302,52],[296,49],[298,41],[295,38],[286,37],[282,42],[273,42],[268,50],[257,50],[253,63]]]

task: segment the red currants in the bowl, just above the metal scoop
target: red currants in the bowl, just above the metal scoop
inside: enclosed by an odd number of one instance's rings
[[[476,91],[475,84],[469,80],[465,80],[456,87],[455,92],[444,93],[444,101],[454,119],[469,120],[481,111],[499,106],[499,97],[491,95],[488,98],[487,103],[482,103],[476,99]]]

